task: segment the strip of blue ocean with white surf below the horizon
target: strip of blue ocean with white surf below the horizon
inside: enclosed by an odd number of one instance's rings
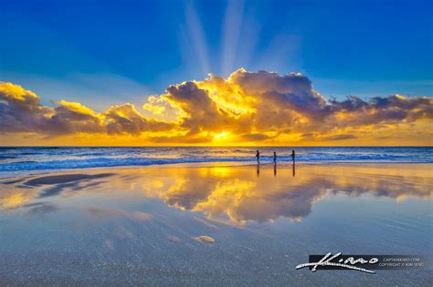
[[[0,178],[34,171],[174,163],[255,162],[254,147],[3,147]],[[267,147],[259,148],[260,161],[269,163],[277,152],[279,162],[433,162],[432,147]]]

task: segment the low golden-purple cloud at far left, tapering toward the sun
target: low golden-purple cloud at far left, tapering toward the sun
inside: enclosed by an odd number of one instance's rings
[[[12,83],[0,83],[0,133],[39,133],[47,136],[87,134],[131,134],[161,131],[173,124],[145,118],[132,104],[113,106],[97,113],[77,102],[53,102],[42,106],[40,98]]]

